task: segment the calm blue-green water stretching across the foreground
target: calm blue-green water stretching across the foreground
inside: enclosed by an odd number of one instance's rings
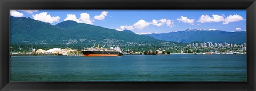
[[[246,55],[10,57],[10,81],[245,82],[246,79]]]

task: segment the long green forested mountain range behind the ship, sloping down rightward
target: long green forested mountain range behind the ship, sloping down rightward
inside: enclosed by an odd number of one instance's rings
[[[93,46],[94,43],[114,46],[165,46],[175,44],[138,35],[130,30],[117,31],[75,21],[63,21],[56,25],[41,22],[29,17],[10,16],[11,44],[78,44],[83,47]],[[80,46],[80,47],[81,47]]]

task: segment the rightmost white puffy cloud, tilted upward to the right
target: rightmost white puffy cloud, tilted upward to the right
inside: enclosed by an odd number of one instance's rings
[[[223,22],[223,24],[228,24],[230,22],[237,22],[237,21],[242,21],[244,20],[242,16],[240,15],[229,15],[228,17],[225,18],[225,21]]]

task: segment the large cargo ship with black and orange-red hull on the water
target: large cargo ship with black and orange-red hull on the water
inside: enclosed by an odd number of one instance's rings
[[[105,44],[106,45],[106,44]],[[105,45],[102,48],[95,47],[95,44],[93,47],[85,49],[82,51],[84,57],[101,57],[101,56],[121,56],[122,51],[118,46],[110,47],[110,49],[103,49]]]

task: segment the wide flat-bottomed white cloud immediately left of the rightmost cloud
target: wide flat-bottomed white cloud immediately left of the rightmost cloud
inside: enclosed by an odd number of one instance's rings
[[[209,15],[201,15],[200,19],[197,22],[200,22],[200,23],[222,22],[224,20],[225,19],[223,16],[213,14],[212,17],[210,17]]]

